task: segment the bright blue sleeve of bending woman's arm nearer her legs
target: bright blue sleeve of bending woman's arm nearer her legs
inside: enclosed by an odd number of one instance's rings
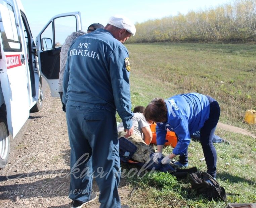
[[[179,140],[172,152],[175,155],[184,155],[190,143],[188,118],[184,115],[176,116],[170,121],[168,120],[168,123],[169,122],[171,123],[171,127],[173,128],[173,131],[177,134]]]

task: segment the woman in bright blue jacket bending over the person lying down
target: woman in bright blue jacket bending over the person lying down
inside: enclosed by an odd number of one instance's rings
[[[157,153],[154,159],[162,157],[162,149],[166,142],[167,128],[176,133],[178,143],[170,155],[162,159],[166,164],[179,155],[179,166],[188,166],[188,145],[190,135],[200,130],[207,172],[216,177],[217,154],[212,139],[220,116],[220,107],[213,98],[199,93],[181,94],[166,100],[156,98],[147,105],[145,112],[147,121],[157,123]]]

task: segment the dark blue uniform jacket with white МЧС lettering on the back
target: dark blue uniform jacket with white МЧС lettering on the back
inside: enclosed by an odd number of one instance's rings
[[[130,66],[125,46],[105,29],[78,37],[71,45],[63,77],[63,103],[118,111],[132,127]]]

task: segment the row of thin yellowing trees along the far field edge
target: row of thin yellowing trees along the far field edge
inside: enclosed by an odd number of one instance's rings
[[[256,41],[256,0],[234,0],[215,8],[136,23],[129,43],[167,41]]]

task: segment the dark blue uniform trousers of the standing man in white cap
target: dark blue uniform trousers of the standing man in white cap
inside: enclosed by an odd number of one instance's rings
[[[104,108],[67,104],[66,117],[71,147],[69,198],[81,202],[90,199],[94,171],[100,191],[100,207],[121,207],[118,195],[121,172],[115,113]]]

